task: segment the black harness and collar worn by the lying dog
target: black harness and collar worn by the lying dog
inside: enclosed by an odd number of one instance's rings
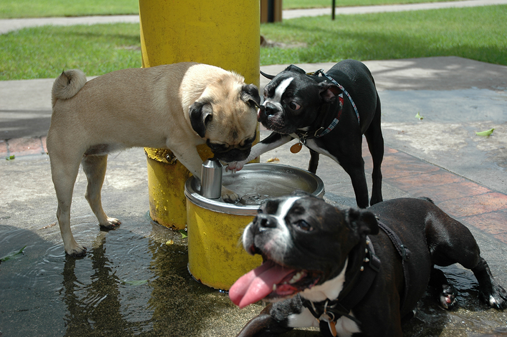
[[[403,274],[405,276],[405,295],[402,299],[402,307],[407,297],[409,274],[408,268],[405,267],[405,261],[410,257],[410,251],[401,242],[400,238],[384,223],[378,221],[379,227],[387,234],[391,242],[393,243],[396,251],[402,257]],[[370,238],[367,236],[364,244],[359,244],[354,252],[349,254],[349,259],[356,259],[355,255],[361,256],[363,259],[360,261],[360,267],[357,268],[357,263],[352,263],[347,267],[346,276],[351,275],[350,280],[347,280],[344,284],[343,290],[340,292],[338,298],[330,300],[327,299],[322,302],[313,303],[308,299],[301,298],[303,306],[308,308],[312,315],[319,322],[320,332],[325,337],[336,337],[336,322],[340,317],[347,317],[354,321],[357,326],[360,326],[361,322],[355,317],[349,315],[352,308],[354,308],[370,289],[378,271],[380,270],[381,261],[380,258],[375,255],[375,250]],[[364,253],[363,253],[364,252]],[[350,270],[356,268],[356,270]],[[350,272],[350,273],[349,273]]]

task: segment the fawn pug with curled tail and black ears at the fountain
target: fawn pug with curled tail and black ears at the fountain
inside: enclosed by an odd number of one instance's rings
[[[200,178],[197,145],[207,144],[224,163],[248,157],[260,102],[257,87],[239,74],[201,63],[117,70],[88,82],[79,69],[63,71],[53,84],[47,149],[65,252],[86,254],[70,230],[80,163],[93,213],[101,227],[115,228],[121,222],[105,214],[100,197],[107,154],[134,146],[168,148]],[[222,198],[238,196],[222,188]]]

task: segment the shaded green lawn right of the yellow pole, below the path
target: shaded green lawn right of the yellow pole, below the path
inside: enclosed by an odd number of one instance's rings
[[[507,65],[505,22],[507,6],[285,20],[262,25],[261,34],[306,47],[262,48],[261,64],[452,55]]]

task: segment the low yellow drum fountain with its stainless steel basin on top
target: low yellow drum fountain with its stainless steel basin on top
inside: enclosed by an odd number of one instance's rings
[[[313,173],[278,164],[247,164],[236,173],[225,169],[222,173],[222,185],[236,192],[241,203],[204,198],[200,181],[193,176],[185,183],[188,269],[199,282],[228,290],[241,275],[262,264],[260,255],[249,255],[240,244],[259,205],[297,190],[322,197],[324,184]]]

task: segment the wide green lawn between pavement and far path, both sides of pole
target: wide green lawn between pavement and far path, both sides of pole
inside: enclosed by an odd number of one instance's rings
[[[344,15],[262,24],[261,64],[460,56],[507,65],[507,6]],[[0,35],[0,80],[55,78],[68,68],[88,76],[141,65],[139,25],[25,28]]]

